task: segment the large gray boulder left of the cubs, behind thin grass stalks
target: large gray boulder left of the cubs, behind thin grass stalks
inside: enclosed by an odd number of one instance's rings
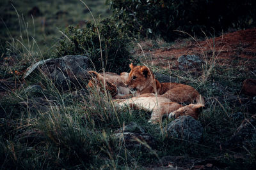
[[[41,60],[27,69],[24,78],[40,69],[56,87],[68,90],[69,87],[81,85],[88,78],[89,63],[90,59],[83,55],[66,55],[57,59]]]

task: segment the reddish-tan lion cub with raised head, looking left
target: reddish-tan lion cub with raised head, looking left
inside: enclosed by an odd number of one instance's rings
[[[154,74],[146,66],[130,65],[131,72],[127,80],[127,87],[136,91],[137,95],[156,93],[177,103],[193,103],[204,105],[204,98],[191,86],[180,83],[159,83]]]

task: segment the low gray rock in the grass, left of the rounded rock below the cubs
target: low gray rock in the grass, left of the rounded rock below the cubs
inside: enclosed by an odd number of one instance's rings
[[[118,139],[127,148],[154,148],[155,141],[150,134],[145,133],[144,129],[135,123],[126,125],[124,128],[118,129],[112,135],[114,139]],[[147,146],[148,145],[148,146]]]

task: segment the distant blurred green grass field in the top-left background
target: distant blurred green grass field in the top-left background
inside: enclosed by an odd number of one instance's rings
[[[90,10],[92,10],[96,20],[111,15],[104,0],[91,0],[85,3],[90,6]],[[42,15],[32,18],[28,12],[34,6],[39,8]],[[54,45],[61,36],[59,32],[61,29],[65,29],[68,25],[79,25],[79,23],[83,27],[83,22],[92,20],[92,15],[79,0],[3,0],[1,1],[0,10],[0,19],[4,21],[0,24],[1,46],[5,46],[5,41],[9,41],[8,36],[10,35],[17,39],[22,34],[26,39],[27,29],[29,38],[31,36],[35,38],[39,49],[45,55],[50,55],[49,53],[54,50]],[[67,12],[67,14],[56,15],[60,11]],[[19,13],[19,17],[17,13]],[[0,52],[3,53],[3,50]],[[36,52],[38,52],[38,49],[36,49]]]

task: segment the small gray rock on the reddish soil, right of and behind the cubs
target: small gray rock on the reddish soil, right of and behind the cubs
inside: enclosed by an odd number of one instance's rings
[[[191,68],[200,69],[204,61],[198,55],[182,55],[178,58],[179,68],[188,70]]]

